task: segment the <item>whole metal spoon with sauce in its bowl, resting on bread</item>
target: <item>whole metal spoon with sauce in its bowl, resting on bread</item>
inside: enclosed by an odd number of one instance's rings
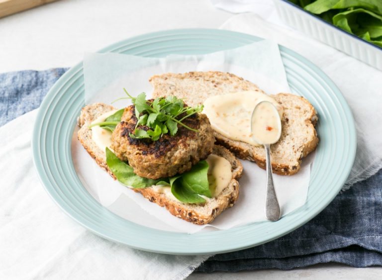
[[[261,116],[262,118],[260,118]],[[268,123],[272,124],[268,125]],[[274,130],[273,133],[271,133],[272,130]],[[270,221],[278,221],[281,215],[280,205],[279,201],[277,200],[275,186],[273,183],[270,150],[271,145],[276,143],[280,139],[281,119],[278,110],[271,102],[262,101],[256,105],[255,109],[252,112],[251,132],[254,140],[257,143],[264,145],[265,148],[267,161],[267,190],[265,196],[265,216]]]

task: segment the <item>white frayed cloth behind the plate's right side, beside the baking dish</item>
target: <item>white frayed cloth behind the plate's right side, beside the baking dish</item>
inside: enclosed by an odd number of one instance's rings
[[[273,1],[212,0],[212,3],[232,12],[253,12],[231,17],[221,29],[273,40],[296,51],[317,65],[340,89],[352,109],[358,142],[356,159],[343,190],[382,168],[381,71],[286,27],[277,16]]]

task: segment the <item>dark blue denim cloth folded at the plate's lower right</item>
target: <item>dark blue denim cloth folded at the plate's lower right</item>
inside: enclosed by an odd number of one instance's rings
[[[288,270],[329,262],[382,265],[382,169],[338,194],[295,231],[264,245],[215,255],[196,271]]]

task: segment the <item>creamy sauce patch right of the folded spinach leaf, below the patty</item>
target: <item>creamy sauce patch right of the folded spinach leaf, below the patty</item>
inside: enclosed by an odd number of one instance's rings
[[[228,186],[232,179],[231,164],[223,157],[209,155],[206,159],[208,163],[208,183],[212,196],[216,197]]]

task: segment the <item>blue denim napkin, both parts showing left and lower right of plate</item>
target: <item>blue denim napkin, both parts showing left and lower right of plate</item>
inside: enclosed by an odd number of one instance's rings
[[[66,70],[0,74],[0,126],[37,108]],[[328,262],[382,265],[382,170],[338,194],[299,229],[264,245],[215,255],[196,271],[287,270]]]

